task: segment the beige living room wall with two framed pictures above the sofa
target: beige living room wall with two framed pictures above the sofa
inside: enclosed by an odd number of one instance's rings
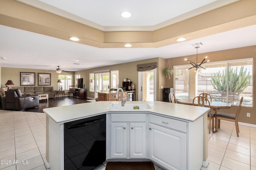
[[[51,73],[51,86],[54,87],[54,90],[58,90],[58,73],[55,71],[8,67],[1,68],[1,88],[5,87],[4,84],[6,84],[7,80],[12,80],[14,86],[20,86],[20,72],[35,72],[36,86],[38,86],[38,73]],[[72,74],[72,79],[74,80],[74,72],[62,72],[61,74]]]

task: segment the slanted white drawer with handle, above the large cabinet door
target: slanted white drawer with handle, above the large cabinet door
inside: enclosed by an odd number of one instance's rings
[[[150,123],[154,123],[156,125],[168,127],[171,129],[176,129],[178,131],[187,132],[187,123],[183,121],[178,121],[174,119],[169,119],[166,117],[161,117],[157,115],[149,115]]]

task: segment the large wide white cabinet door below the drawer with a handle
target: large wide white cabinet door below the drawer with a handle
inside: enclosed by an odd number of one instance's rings
[[[186,170],[186,134],[149,124],[150,159],[168,170]]]

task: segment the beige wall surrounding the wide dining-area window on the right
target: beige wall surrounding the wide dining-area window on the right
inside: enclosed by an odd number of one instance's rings
[[[229,50],[223,50],[223,51],[215,51],[210,53],[203,53],[198,54],[198,61],[202,61],[205,56],[208,56],[208,59],[210,62],[215,61],[227,61],[227,60],[235,60],[235,59],[246,59],[246,58],[253,58],[253,106],[254,107],[242,107],[240,116],[238,121],[244,122],[244,123],[250,123],[256,125],[256,46],[250,46],[250,47],[242,47],[237,49],[229,49]],[[170,62],[172,66],[177,65],[184,65],[188,64],[187,61],[184,59],[189,59],[190,61],[196,61],[196,55],[190,55],[190,56],[184,56],[184,57],[176,57],[171,58]],[[168,59],[166,59],[167,62]],[[174,80],[168,80],[166,79],[166,86],[173,87],[174,86]],[[232,106],[231,109],[222,109],[220,111],[222,112],[232,112],[236,113],[237,106]],[[247,117],[246,113],[251,113],[251,117]]]

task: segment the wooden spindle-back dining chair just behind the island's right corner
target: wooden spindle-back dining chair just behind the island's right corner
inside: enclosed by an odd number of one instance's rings
[[[211,108],[210,101],[208,100],[208,98],[206,98],[204,96],[196,96],[193,99],[193,105],[195,105],[194,102],[196,101],[196,99],[197,99],[198,106]],[[206,103],[208,103],[208,104],[206,105]],[[211,113],[211,111],[208,111],[207,116],[208,116],[208,120],[209,120],[209,134],[210,134],[211,133],[211,121],[212,121],[212,126],[214,126],[214,113]]]

